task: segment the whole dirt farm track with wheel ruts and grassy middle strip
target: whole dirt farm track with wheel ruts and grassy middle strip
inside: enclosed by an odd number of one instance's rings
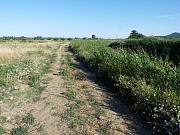
[[[25,116],[26,124],[14,122],[5,127],[19,127],[22,135],[150,134],[94,73],[75,60],[68,44],[60,46],[50,72],[42,78],[41,85],[46,87],[39,99],[14,109],[2,106],[4,116]]]

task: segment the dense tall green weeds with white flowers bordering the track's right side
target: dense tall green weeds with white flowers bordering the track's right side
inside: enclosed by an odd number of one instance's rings
[[[81,60],[114,83],[155,134],[180,133],[180,68],[145,52],[114,50],[105,41],[75,41]]]

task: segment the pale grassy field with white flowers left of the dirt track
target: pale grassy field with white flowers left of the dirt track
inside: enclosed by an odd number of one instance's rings
[[[38,100],[43,89],[39,80],[48,72],[58,47],[59,43],[53,41],[0,42],[0,135],[26,134],[25,128],[8,131],[6,126],[18,121],[28,125],[34,121],[31,114],[22,116],[22,119],[19,116],[11,118],[2,112],[1,107],[17,108],[27,100]]]

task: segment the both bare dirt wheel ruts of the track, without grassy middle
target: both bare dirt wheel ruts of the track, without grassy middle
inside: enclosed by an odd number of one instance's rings
[[[78,94],[77,100],[87,104],[87,106],[82,107],[82,110],[78,110],[77,113],[84,112],[82,113],[83,115],[90,116],[89,121],[92,122],[88,123],[88,121],[85,121],[83,125],[79,125],[81,128],[87,128],[87,131],[89,131],[87,132],[88,135],[95,135],[98,125],[102,124],[101,126],[104,127],[103,122],[106,121],[112,122],[110,124],[112,132],[110,131],[110,133],[114,135],[149,134],[141,122],[130,113],[128,107],[119,99],[114,98],[115,96],[109,93],[106,87],[101,86],[95,73],[89,72],[82,63],[75,59],[73,60],[74,65],[76,65],[75,70],[82,72],[86,76],[85,80],[75,79],[73,80],[74,82],[71,80],[71,82],[66,82],[67,80],[61,78],[59,71],[64,66],[61,63],[63,56],[70,55],[72,59],[74,58],[72,53],[66,51],[68,45],[69,43],[60,45],[50,72],[42,78],[42,85],[44,85],[43,82],[47,81],[47,87],[43,90],[40,98],[37,101],[23,104],[13,111],[10,111],[10,108],[7,107],[6,112],[18,115],[32,114],[35,118],[35,123],[28,129],[29,135],[76,135],[79,132],[70,128],[69,123],[62,119],[62,115],[69,109],[67,104],[71,103],[64,94],[67,93],[68,87],[72,87]],[[84,88],[82,88],[83,86]],[[107,115],[99,118],[94,116],[94,107],[96,105],[92,105],[90,102],[91,98],[95,98],[101,104],[101,106],[97,107],[101,107]],[[9,127],[9,129],[11,128],[14,127]]]

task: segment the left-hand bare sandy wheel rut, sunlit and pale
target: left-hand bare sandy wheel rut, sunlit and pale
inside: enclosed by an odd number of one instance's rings
[[[67,43],[68,44],[68,43]],[[61,95],[65,93],[63,79],[59,76],[59,68],[61,66],[61,58],[63,47],[60,46],[56,52],[57,58],[52,64],[51,71],[43,77],[42,80],[48,79],[48,85],[41,94],[39,101],[27,105],[24,109],[31,113],[36,120],[36,124],[30,129],[30,135],[46,134],[46,135],[64,135],[70,134],[65,123],[61,122],[55,114],[63,114],[66,110],[66,98]],[[41,130],[41,131],[38,131]]]

